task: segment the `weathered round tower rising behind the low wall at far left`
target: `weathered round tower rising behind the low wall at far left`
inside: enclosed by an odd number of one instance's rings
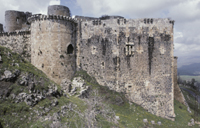
[[[22,24],[26,22],[26,15],[24,12],[8,10],[5,12],[5,31],[13,32],[20,30]]]

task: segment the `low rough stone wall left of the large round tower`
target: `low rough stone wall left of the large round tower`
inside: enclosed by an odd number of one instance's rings
[[[0,45],[20,54],[31,62],[30,31],[0,33]]]

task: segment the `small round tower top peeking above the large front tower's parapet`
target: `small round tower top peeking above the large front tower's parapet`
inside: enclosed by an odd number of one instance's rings
[[[70,16],[70,10],[66,6],[51,5],[48,7],[48,15]]]

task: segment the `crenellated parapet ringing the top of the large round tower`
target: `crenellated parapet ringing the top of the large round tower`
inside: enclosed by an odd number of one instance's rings
[[[70,21],[73,23],[78,23],[78,20],[76,18],[72,18],[69,16],[62,16],[62,15],[32,15],[28,18],[28,22],[32,23],[34,21],[41,21],[41,20],[64,20],[64,21]]]

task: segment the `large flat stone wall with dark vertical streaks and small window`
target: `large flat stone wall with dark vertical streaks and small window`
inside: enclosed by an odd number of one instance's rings
[[[173,21],[85,21],[81,34],[78,66],[149,112],[173,119]]]

